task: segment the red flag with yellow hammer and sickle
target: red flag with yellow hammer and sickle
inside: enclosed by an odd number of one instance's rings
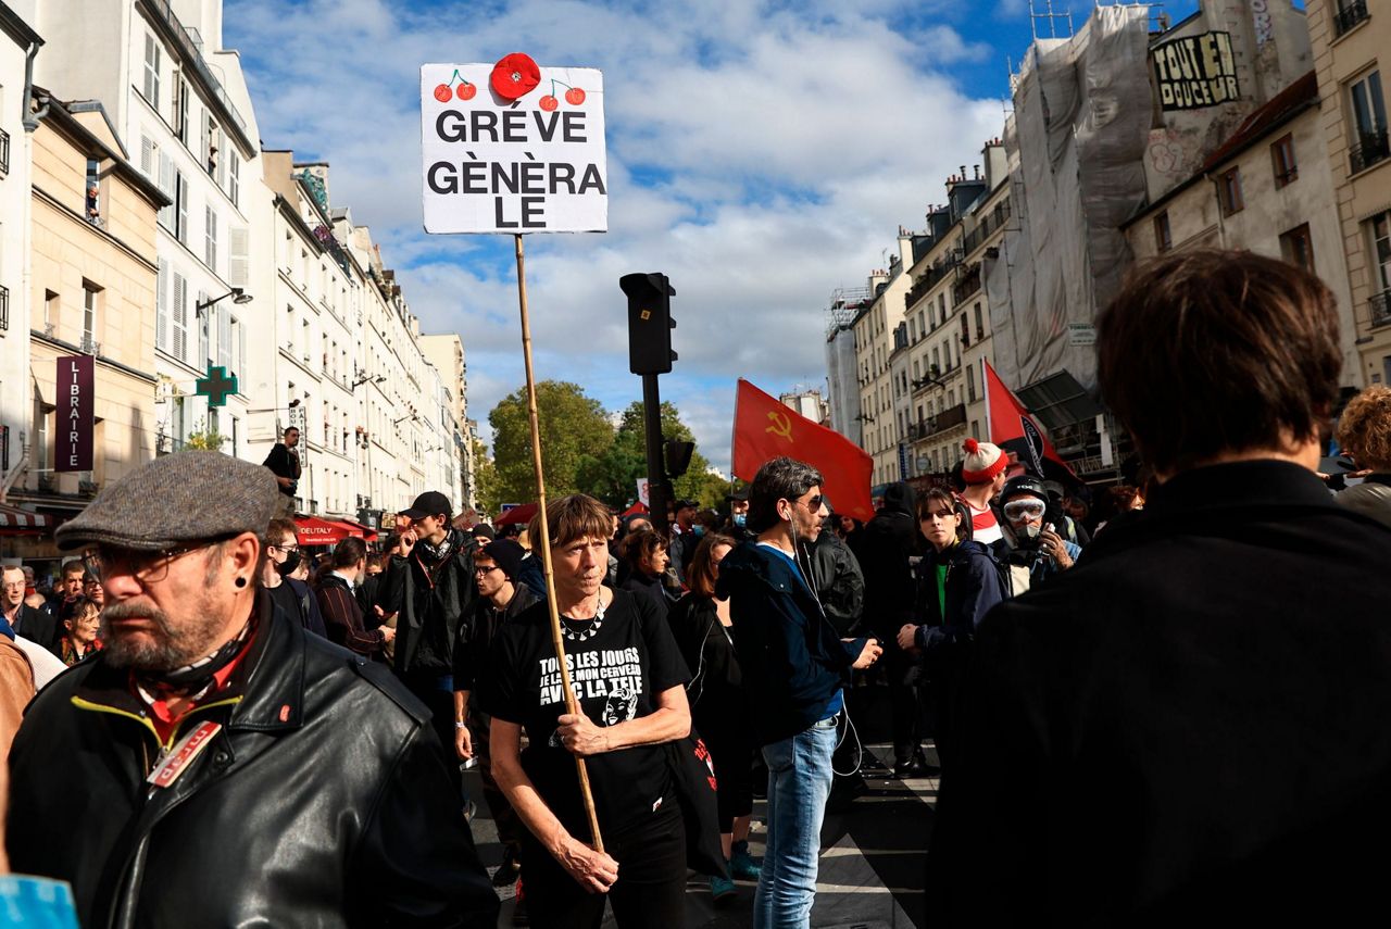
[[[754,480],[764,462],[773,458],[796,458],[821,471],[821,490],[837,513],[874,519],[874,459],[840,433],[796,413],[744,378],[739,378],[734,396],[733,451],[734,476],[740,480]]]

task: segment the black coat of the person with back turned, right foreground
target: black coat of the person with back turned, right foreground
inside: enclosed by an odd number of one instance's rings
[[[1346,925],[1391,866],[1391,530],[1184,471],[975,638],[942,925]]]

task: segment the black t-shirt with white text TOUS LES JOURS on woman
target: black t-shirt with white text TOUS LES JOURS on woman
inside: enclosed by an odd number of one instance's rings
[[[657,694],[690,680],[670,630],[651,604],[615,591],[597,630],[594,622],[561,617],[572,631],[594,631],[584,641],[565,640],[574,698],[594,725],[648,716]],[[481,708],[526,730],[530,745],[522,752],[523,770],[565,827],[587,839],[574,755],[555,738],[556,720],[566,711],[545,601],[498,630],[488,665],[477,680]],[[640,822],[666,800],[670,779],[664,752],[661,745],[634,745],[586,758],[601,829]]]

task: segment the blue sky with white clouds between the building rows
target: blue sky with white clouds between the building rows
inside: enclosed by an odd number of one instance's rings
[[[618,278],[665,271],[680,360],[662,398],[727,467],[736,378],[823,384],[830,292],[886,267],[899,225],[921,228],[1002,135],[1031,35],[1025,0],[227,0],[223,39],[266,147],[328,161],[334,206],[371,227],[423,330],[463,338],[484,433],[523,384],[512,241],[423,231],[419,67],[601,68],[609,231],[527,239],[537,377],[640,399]]]

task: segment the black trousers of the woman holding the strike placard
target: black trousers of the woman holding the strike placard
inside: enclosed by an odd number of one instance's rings
[[[522,890],[537,929],[598,929],[604,901],[627,929],[686,925],[686,826],[680,804],[661,808],[622,832],[604,834],[604,851],[618,861],[608,894],[586,893],[530,832],[522,839]]]

